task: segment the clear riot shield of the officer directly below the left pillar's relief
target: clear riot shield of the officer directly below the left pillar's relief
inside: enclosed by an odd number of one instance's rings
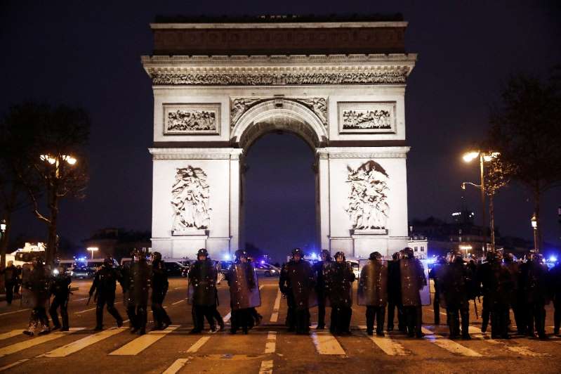
[[[194,264],[187,277],[187,302],[200,306],[216,304],[216,266],[210,261]]]

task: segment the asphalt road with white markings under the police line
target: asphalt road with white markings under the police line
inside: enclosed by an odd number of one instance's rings
[[[286,300],[280,297],[278,278],[260,280],[263,323],[249,335],[204,332],[189,335],[192,328],[190,305],[185,302],[184,278],[170,280],[164,305],[174,323],[167,331],[144,337],[117,329],[105,312],[106,330],[95,333],[95,305],[86,306],[90,280],[77,280],[79,290],[71,296],[70,333],[27,337],[29,310],[0,303],[0,371],[6,373],[473,373],[508,371],[560,373],[561,339],[541,341],[526,337],[491,340],[480,333],[481,320],[472,311],[473,340],[447,339],[447,327],[433,324],[432,306],[423,307],[423,339],[400,333],[385,338],[364,332],[364,307],[355,305],[352,335],[334,337],[327,332],[310,336],[286,332]],[[120,288],[118,286],[118,288]],[[219,286],[220,314],[229,318],[226,283]],[[118,290],[116,305],[126,319]],[[480,305],[478,306],[481,310]],[[317,309],[312,309],[312,323]],[[546,326],[553,332],[553,308],[547,307]],[[327,311],[329,320],[329,310]],[[441,323],[446,317],[442,316]],[[152,316],[149,314],[149,329]],[[127,324],[126,324],[127,325]]]

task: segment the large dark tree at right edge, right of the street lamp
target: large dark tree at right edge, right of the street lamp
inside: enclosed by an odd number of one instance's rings
[[[561,79],[557,67],[544,82],[527,73],[511,75],[501,104],[491,112],[489,144],[512,166],[510,176],[531,193],[536,250],[541,247],[540,200],[561,181]]]

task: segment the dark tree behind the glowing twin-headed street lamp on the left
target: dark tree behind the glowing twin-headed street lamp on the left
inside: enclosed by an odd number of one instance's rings
[[[16,172],[35,216],[47,226],[46,263],[52,264],[57,251],[60,200],[83,198],[88,183],[84,148],[90,122],[84,110],[67,105],[51,108],[26,103],[14,110],[23,112],[26,122],[11,131],[27,143]],[[44,198],[38,191],[44,191]]]

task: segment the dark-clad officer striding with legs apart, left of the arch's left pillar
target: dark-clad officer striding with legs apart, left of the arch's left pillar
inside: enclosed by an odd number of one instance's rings
[[[101,268],[95,272],[93,283],[90,288],[90,297],[95,292],[95,331],[103,330],[103,307],[107,305],[107,311],[117,321],[117,326],[123,325],[123,318],[115,308],[115,289],[117,280],[121,283],[121,274],[113,267],[113,257],[107,256]]]

